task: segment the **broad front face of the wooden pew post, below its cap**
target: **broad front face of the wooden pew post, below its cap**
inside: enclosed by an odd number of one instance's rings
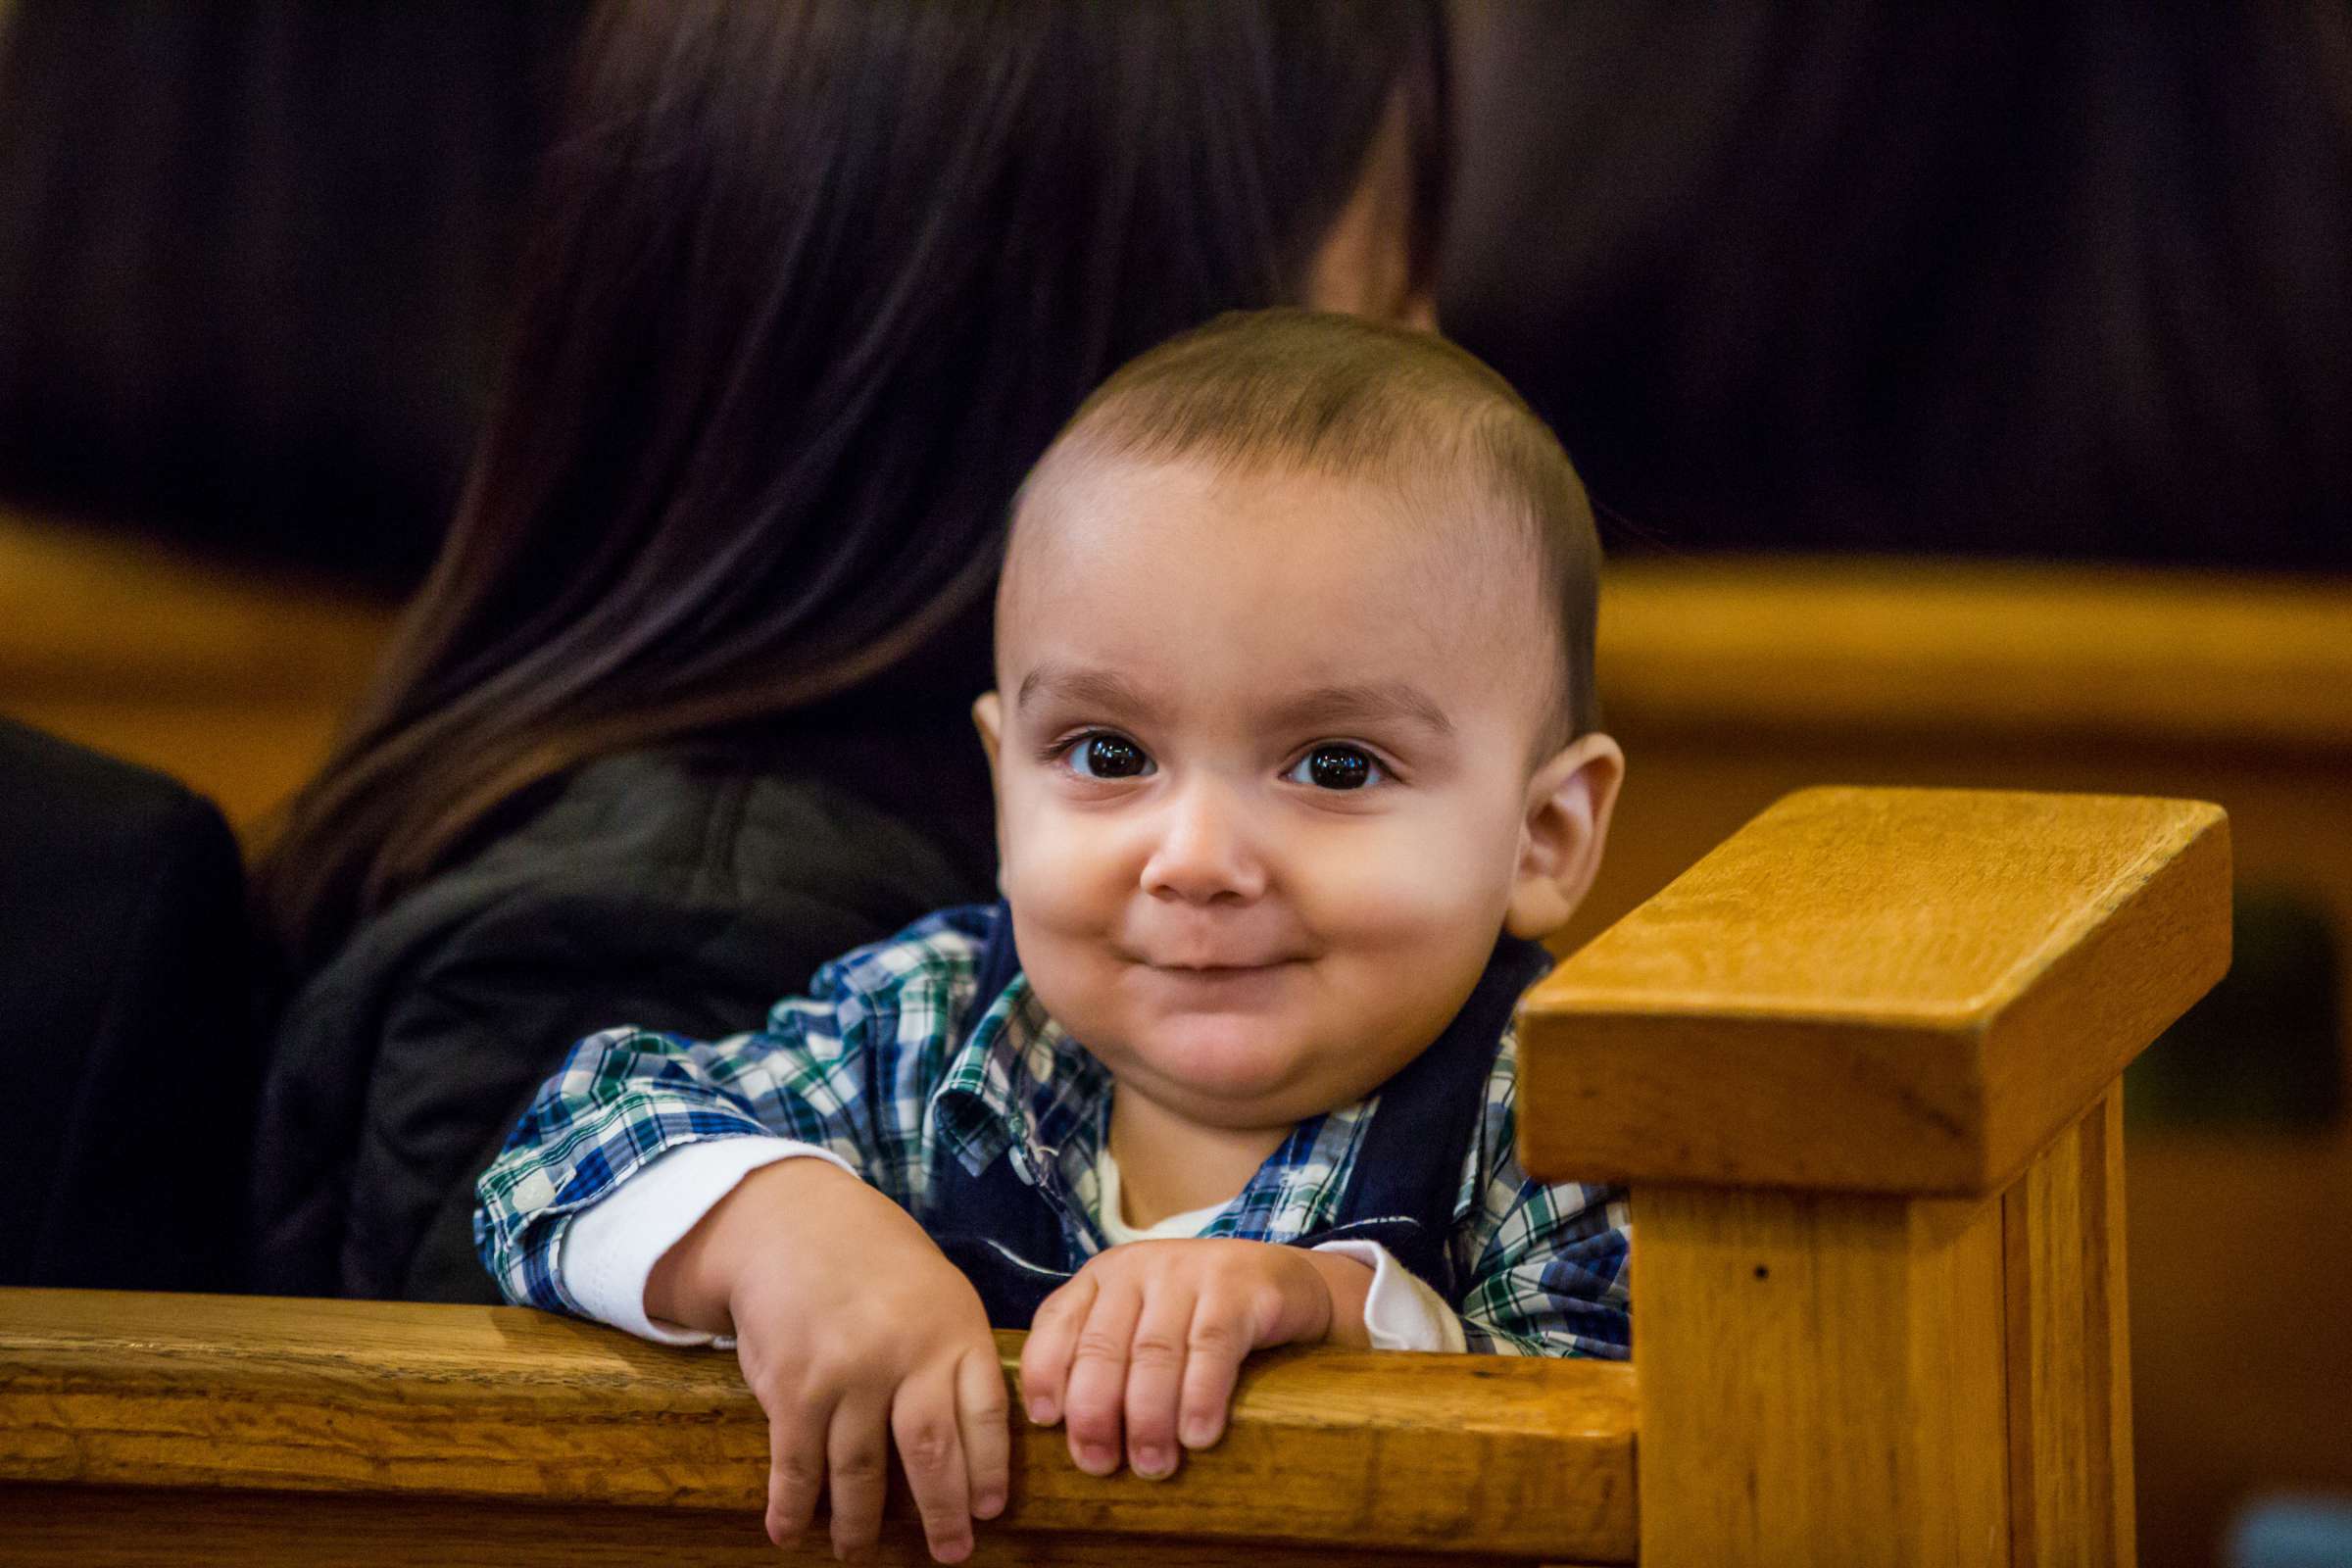
[[[1999,1220],[1637,1187],[1639,1561],[2006,1563]]]

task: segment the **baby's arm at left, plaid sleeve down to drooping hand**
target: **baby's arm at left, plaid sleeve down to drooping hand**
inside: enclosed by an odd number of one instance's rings
[[[856,964],[828,966],[811,999],[781,1004],[757,1034],[581,1041],[482,1178],[475,1229],[510,1298],[579,1309],[572,1237],[661,1157],[713,1140],[837,1157],[736,1180],[652,1265],[642,1305],[736,1333],[769,1413],[779,1542],[807,1528],[830,1483],[835,1549],[873,1544],[896,1439],[931,1549],[955,1561],[971,1549],[971,1519],[1004,1500],[1004,1382],[978,1295],[894,1201],[913,1175],[889,1152],[913,1147],[894,1133],[920,1112],[924,1079],[898,1016],[953,1016],[964,971]],[[882,983],[858,985],[861,973]]]

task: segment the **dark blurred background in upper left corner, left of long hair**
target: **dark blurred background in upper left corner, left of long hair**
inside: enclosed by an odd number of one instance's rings
[[[412,585],[581,7],[9,5],[0,496]]]

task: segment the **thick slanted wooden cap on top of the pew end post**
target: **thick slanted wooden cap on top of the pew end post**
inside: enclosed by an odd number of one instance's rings
[[[1990,1197],[2230,959],[2216,806],[1802,790],[1522,1004],[1548,1178]]]

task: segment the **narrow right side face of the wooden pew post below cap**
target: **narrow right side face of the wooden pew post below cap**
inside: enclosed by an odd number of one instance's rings
[[[2013,1561],[2133,1563],[2119,1091],[2009,1190],[2002,1244]]]

